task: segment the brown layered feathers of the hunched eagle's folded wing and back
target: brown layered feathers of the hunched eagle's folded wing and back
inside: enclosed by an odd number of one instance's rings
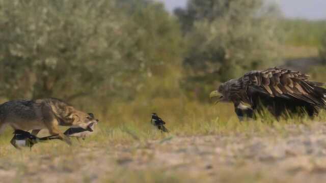
[[[310,104],[326,106],[326,89],[323,83],[308,81],[309,75],[288,69],[271,68],[252,71],[242,77],[242,88],[247,95],[261,93],[269,97],[298,99]]]

